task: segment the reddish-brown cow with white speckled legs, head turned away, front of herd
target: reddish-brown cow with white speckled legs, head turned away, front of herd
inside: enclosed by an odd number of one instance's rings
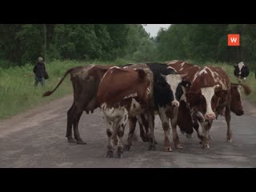
[[[118,138],[116,157],[121,157],[126,123],[129,121],[130,126],[133,126],[137,115],[146,113],[150,130],[154,130],[152,79],[152,72],[143,64],[140,65],[140,69],[133,69],[130,66],[123,69],[114,66],[103,76],[98,86],[97,99],[107,126],[109,143],[106,157],[114,156],[115,134]],[[154,145],[154,133],[150,131],[150,134]]]

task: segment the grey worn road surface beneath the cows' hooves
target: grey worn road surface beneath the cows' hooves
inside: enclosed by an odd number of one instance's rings
[[[49,102],[34,110],[0,121],[0,167],[255,167],[256,108],[244,102],[245,114],[231,116],[234,142],[226,143],[224,118],[214,121],[210,130],[210,150],[201,149],[198,138],[187,139],[178,131],[185,146],[182,150],[163,152],[163,130],[156,118],[158,145],[148,151],[148,144],[138,138],[121,159],[105,158],[106,127],[99,110],[82,114],[80,133],[87,145],[66,142],[66,111],[73,96]],[[126,126],[125,140],[128,127]],[[136,128],[138,132],[138,127]],[[172,134],[170,134],[172,136]]]

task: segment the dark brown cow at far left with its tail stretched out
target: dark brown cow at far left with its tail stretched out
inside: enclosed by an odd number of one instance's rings
[[[46,93],[43,94],[44,97],[53,94],[54,91],[58,89],[58,86],[62,84],[66,75],[70,74],[70,80],[74,90],[74,102],[70,107],[70,110],[67,111],[66,138],[68,142],[86,144],[80,137],[78,122],[83,111],[86,111],[86,114],[89,114],[90,112],[93,113],[94,110],[98,108],[96,98],[98,84],[110,67],[111,66],[88,65],[71,68],[66,71],[54,90],[46,91]],[[74,129],[74,138],[72,135],[72,126]]]

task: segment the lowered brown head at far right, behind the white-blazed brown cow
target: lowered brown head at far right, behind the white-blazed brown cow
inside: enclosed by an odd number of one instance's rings
[[[241,86],[238,84],[231,84],[230,110],[238,116],[244,114],[242,107]]]

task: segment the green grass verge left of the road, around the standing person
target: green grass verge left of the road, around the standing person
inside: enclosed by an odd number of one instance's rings
[[[122,65],[128,61],[118,58],[114,62],[76,62],[76,61],[54,61],[46,63],[46,70],[50,76],[46,80],[43,89],[40,83],[34,87],[33,65],[27,64],[22,67],[0,68],[0,119],[19,114],[24,110],[38,106],[40,103],[62,98],[66,94],[72,94],[70,76],[66,77],[62,85],[50,97],[42,98],[46,90],[52,90],[62,78],[66,70],[74,66],[85,66],[88,64]],[[26,76],[32,75],[32,76]]]

